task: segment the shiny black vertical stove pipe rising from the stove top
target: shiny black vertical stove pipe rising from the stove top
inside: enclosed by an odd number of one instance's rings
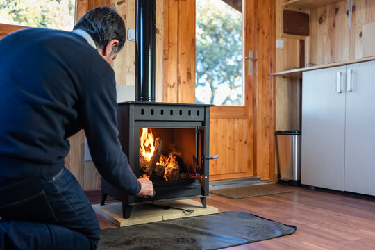
[[[135,19],[135,101],[155,101],[156,0],[137,0]]]

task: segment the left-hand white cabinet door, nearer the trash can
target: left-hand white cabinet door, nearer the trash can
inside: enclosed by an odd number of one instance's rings
[[[345,72],[345,66],[303,72],[302,184],[344,190]]]

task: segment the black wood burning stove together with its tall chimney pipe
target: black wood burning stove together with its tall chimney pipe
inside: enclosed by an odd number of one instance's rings
[[[201,198],[206,208],[208,196],[208,160],[210,136],[210,105],[185,103],[155,103],[155,0],[137,0],[135,31],[135,98],[136,101],[119,103],[117,124],[122,150],[135,176],[149,176],[156,194],[139,198],[126,194],[105,180],[101,181],[101,205],[107,195],[122,201],[123,217],[130,217],[133,205],[164,199]],[[147,133],[144,133],[147,129]],[[149,135],[150,131],[151,135]],[[142,135],[144,134],[144,135]],[[140,153],[142,138],[158,138],[162,156],[155,168],[149,166]],[[151,139],[150,139],[151,140]],[[160,146],[160,144],[159,144]],[[171,152],[173,152],[171,154]],[[167,159],[168,158],[168,159]],[[169,163],[167,163],[169,161]]]

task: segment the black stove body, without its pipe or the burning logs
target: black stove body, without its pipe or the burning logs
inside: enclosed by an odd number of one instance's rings
[[[142,128],[151,128],[155,138],[163,139],[163,152],[167,155],[171,147],[178,151],[179,177],[166,180],[163,175],[150,176],[156,195],[139,198],[114,188],[102,179],[101,205],[107,194],[122,201],[123,217],[128,218],[133,205],[161,199],[201,198],[206,208],[208,196],[210,106],[180,104],[126,102],[119,103],[117,123],[122,150],[128,156],[129,165],[136,176],[142,177],[140,162],[140,136]],[[215,157],[213,157],[215,158]]]

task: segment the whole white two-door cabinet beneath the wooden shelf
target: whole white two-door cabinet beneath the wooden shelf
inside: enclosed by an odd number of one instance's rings
[[[375,195],[375,61],[303,72],[301,183]]]

